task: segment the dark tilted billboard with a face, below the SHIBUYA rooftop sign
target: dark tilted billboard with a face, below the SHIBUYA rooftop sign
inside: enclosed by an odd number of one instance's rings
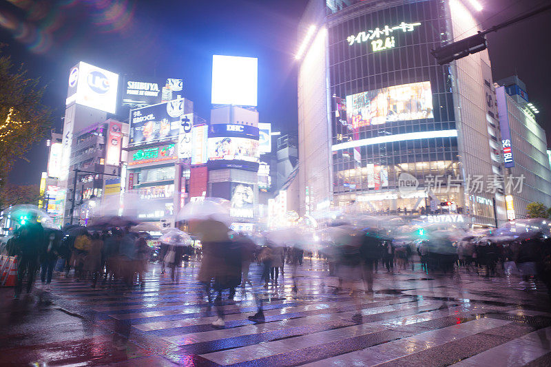
[[[152,143],[165,138],[176,138],[184,114],[193,107],[185,98],[130,111],[129,144]]]

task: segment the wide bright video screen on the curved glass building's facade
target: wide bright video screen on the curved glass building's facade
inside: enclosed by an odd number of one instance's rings
[[[429,81],[346,96],[346,120],[353,129],[420,118],[434,118]]]

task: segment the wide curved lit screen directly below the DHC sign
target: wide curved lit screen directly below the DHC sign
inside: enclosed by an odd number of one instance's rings
[[[209,138],[209,160],[243,160],[260,162],[258,140],[249,138]]]

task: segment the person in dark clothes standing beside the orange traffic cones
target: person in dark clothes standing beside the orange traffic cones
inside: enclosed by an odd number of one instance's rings
[[[17,284],[15,297],[18,298],[23,288],[23,277],[27,274],[27,293],[32,289],[34,275],[37,272],[39,251],[44,240],[44,229],[37,222],[37,216],[31,216],[29,222],[21,227],[20,253],[17,266]]]

